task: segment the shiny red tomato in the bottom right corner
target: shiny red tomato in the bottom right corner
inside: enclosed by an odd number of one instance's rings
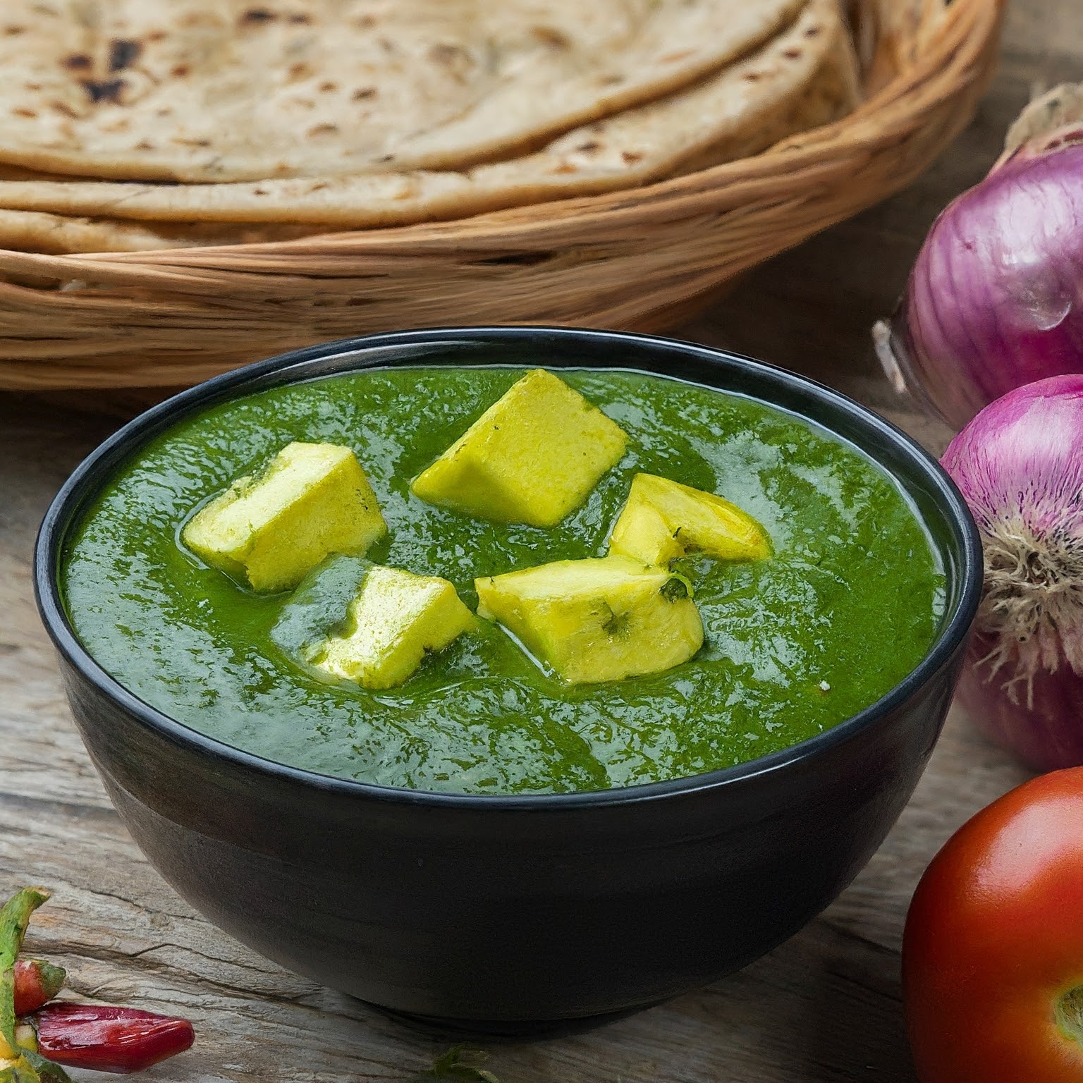
[[[1083,1083],[1083,767],[948,840],[910,904],[902,983],[922,1083]]]

